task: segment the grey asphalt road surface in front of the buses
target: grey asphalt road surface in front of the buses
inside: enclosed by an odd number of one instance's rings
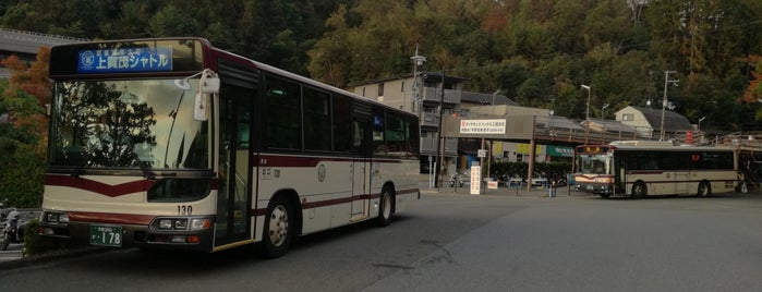
[[[387,228],[309,235],[274,260],[249,248],[108,250],[5,266],[0,282],[5,291],[762,291],[762,195],[450,191],[425,193]]]

